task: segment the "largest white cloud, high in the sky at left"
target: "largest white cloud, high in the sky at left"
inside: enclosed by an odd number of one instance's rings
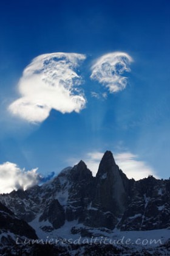
[[[77,68],[84,59],[83,54],[63,52],[33,59],[19,80],[21,98],[10,104],[10,112],[31,123],[44,121],[52,108],[61,113],[80,112],[86,99]]]

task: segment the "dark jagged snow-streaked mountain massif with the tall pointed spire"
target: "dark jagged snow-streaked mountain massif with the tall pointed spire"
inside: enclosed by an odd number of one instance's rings
[[[41,187],[1,194],[0,201],[42,240],[112,238],[117,230],[140,235],[162,230],[170,235],[170,180],[128,179],[110,151],[103,155],[96,177],[81,160]]]

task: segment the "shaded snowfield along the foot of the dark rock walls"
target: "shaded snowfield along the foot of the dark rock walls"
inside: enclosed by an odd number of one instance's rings
[[[91,207],[91,204],[89,205]],[[93,207],[92,207],[93,208]],[[134,215],[131,218],[137,218],[138,215]],[[121,218],[119,219],[119,221]],[[106,228],[92,228],[84,226],[83,224],[78,223],[78,220],[75,221],[66,221],[64,226],[60,229],[54,229],[50,231],[43,231],[41,227],[47,226],[52,227],[49,221],[39,222],[39,215],[36,216],[32,222],[29,222],[30,226],[32,226],[36,230],[36,235],[38,235],[39,240],[77,240],[81,238],[81,240],[87,238],[108,238],[113,243],[117,243],[117,241],[121,241],[123,245],[125,241],[129,240],[130,244],[128,246],[132,247],[155,247],[160,246],[161,244],[165,243],[170,237],[170,230],[169,229],[158,229],[158,230],[140,230],[140,231],[120,231],[118,229],[109,230]],[[71,233],[72,227],[77,229],[76,234]],[[81,230],[87,230],[87,232],[91,233],[92,235],[83,236],[81,237]],[[58,242],[60,243],[60,242]],[[144,244],[143,244],[144,243]],[[115,244],[114,244],[115,245]],[[116,244],[117,246],[117,244]]]

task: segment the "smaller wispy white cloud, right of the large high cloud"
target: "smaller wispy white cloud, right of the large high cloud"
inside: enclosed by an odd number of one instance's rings
[[[92,65],[90,78],[109,88],[110,93],[124,90],[127,78],[122,76],[122,74],[124,71],[131,71],[129,68],[131,62],[132,57],[125,52],[111,52],[102,55]]]

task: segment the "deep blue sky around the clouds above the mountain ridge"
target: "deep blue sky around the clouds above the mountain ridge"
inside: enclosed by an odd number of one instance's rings
[[[92,166],[109,149],[135,161],[136,172],[140,163],[169,178],[169,1],[4,1],[0,12],[1,165],[38,167],[46,176],[81,158]],[[57,52],[86,55],[77,68],[84,107],[62,113],[57,103],[38,124],[13,115],[9,106],[23,96],[24,69],[39,55]],[[90,79],[98,58],[115,52],[133,59],[131,71],[120,74],[126,88],[117,92]]]

